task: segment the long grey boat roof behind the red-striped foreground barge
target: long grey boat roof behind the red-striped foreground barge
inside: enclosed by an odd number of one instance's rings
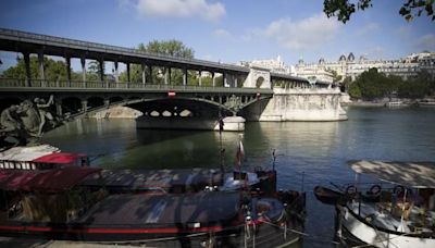
[[[222,174],[213,169],[164,169],[164,170],[103,170],[102,182],[113,188],[162,188],[171,190],[174,186],[197,187],[220,185]],[[101,178],[89,176],[82,185],[100,186]]]

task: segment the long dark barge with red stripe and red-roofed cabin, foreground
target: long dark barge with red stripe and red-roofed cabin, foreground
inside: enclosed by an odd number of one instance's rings
[[[0,235],[152,247],[276,247],[297,241],[303,231],[303,193],[110,194],[103,185],[80,184],[101,172],[0,170]]]

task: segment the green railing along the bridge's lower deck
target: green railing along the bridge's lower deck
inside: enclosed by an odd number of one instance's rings
[[[1,89],[100,89],[100,90],[130,90],[130,91],[201,91],[201,92],[241,92],[241,94],[273,94],[272,89],[260,88],[228,88],[213,86],[192,86],[192,85],[164,85],[164,84],[142,84],[142,83],[115,83],[115,82],[66,82],[66,80],[41,80],[32,79],[27,85],[26,79],[0,78]]]

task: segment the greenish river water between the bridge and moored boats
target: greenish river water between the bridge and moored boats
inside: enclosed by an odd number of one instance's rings
[[[235,164],[241,138],[244,166],[272,166],[276,150],[278,187],[308,193],[303,247],[333,247],[334,208],[312,195],[315,185],[352,182],[348,160],[435,160],[435,108],[348,109],[345,122],[247,123],[223,133],[226,168]],[[44,142],[63,151],[85,152],[103,168],[219,168],[217,132],[136,129],[134,120],[82,120],[45,135]],[[302,184],[303,182],[303,184]]]

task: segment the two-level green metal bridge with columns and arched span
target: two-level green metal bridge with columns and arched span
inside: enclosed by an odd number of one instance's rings
[[[136,49],[88,42],[54,36],[0,28],[0,50],[22,53],[25,78],[0,78],[0,108],[26,99],[54,96],[54,111],[84,116],[113,106],[126,106],[141,111],[145,116],[171,119],[200,117],[216,120],[225,115],[244,114],[252,106],[264,109],[274,96],[274,87],[284,89],[310,88],[306,78],[272,73],[261,67],[247,67],[198,59],[185,59],[144,52]],[[38,58],[38,78],[32,78],[30,54]],[[65,60],[66,79],[49,80],[45,73],[45,55]],[[72,80],[71,60],[79,59],[80,80]],[[89,80],[86,61],[98,61],[98,80]],[[114,79],[104,75],[103,64],[112,62]],[[126,66],[127,82],[120,82],[119,63]],[[141,69],[141,80],[130,79],[130,65]],[[152,82],[153,70],[163,67],[163,82]],[[182,82],[171,82],[172,70],[182,71]],[[188,72],[197,73],[198,83],[188,82]],[[203,72],[211,77],[211,86],[202,85]],[[223,86],[217,87],[216,74]],[[326,87],[318,84],[316,87]],[[184,120],[183,119],[183,120]]]

